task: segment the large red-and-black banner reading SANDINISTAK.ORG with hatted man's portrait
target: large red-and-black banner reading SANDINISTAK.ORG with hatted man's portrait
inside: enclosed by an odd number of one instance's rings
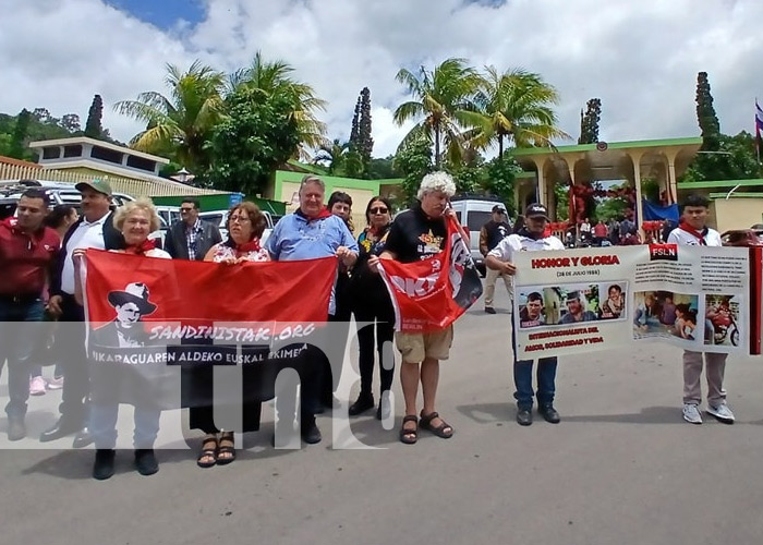
[[[227,265],[88,250],[90,398],[226,402],[213,397],[218,365],[242,367],[244,400],[272,398],[278,373],[319,342],[336,271],[335,257]]]

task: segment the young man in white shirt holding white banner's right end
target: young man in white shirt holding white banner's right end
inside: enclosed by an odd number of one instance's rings
[[[701,195],[689,195],[681,206],[681,222],[668,234],[668,244],[690,246],[722,246],[720,234],[705,226],[710,201]],[[707,414],[718,421],[734,424],[734,413],[726,405],[724,373],[726,356],[706,352],[705,374],[707,376]],[[702,424],[700,403],[702,402],[702,352],[683,351],[683,420],[691,424]]]

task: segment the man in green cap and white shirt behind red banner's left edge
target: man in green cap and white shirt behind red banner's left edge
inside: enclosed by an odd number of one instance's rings
[[[63,391],[59,411],[61,417],[43,432],[43,443],[76,433],[74,447],[90,443],[86,428],[89,393],[87,353],[85,351],[85,311],[74,299],[74,262],[77,249],[119,250],[124,240],[113,227],[110,209],[111,185],[106,180],[93,180],[75,185],[82,193],[82,217],[69,228],[61,244],[59,264],[50,281],[49,312],[62,322],[63,335],[58,336],[57,352],[64,367]]]

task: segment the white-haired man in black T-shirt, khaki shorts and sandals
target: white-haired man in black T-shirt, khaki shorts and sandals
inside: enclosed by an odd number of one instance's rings
[[[385,251],[379,257],[368,259],[370,267],[376,269],[379,258],[413,263],[429,259],[441,252],[448,238],[445,218],[456,217],[449,206],[455,193],[456,184],[446,172],[425,175],[419,187],[419,201],[395,218]],[[407,445],[416,443],[419,425],[444,439],[453,435],[453,428],[435,410],[439,361],[448,359],[452,340],[452,325],[427,334],[396,334],[396,344],[402,354],[400,382],[405,399],[400,440]],[[424,395],[421,424],[416,412],[419,383]]]

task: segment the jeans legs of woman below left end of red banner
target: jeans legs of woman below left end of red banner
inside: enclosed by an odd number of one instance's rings
[[[90,404],[89,431],[96,448],[112,449],[117,446],[117,416],[119,404]],[[147,407],[135,407],[135,431],[133,445],[135,448],[154,448],[154,441],[159,433],[159,416],[161,411]]]

